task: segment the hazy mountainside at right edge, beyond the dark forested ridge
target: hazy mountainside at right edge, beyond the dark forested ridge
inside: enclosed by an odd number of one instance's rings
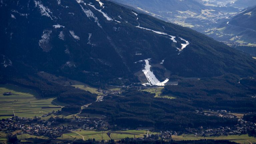
[[[206,33],[219,41],[233,42],[238,45],[256,46],[255,23],[256,6],[247,8],[227,22],[206,31]]]

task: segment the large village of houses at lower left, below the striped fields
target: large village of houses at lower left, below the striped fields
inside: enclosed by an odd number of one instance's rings
[[[57,122],[57,118],[49,120],[40,120],[40,118],[28,119],[21,117],[12,117],[0,121],[0,131],[8,132],[18,131],[17,134],[44,135],[50,138],[60,137],[63,133],[76,129],[84,130],[108,130],[109,124],[100,118],[74,118],[71,124]],[[81,126],[80,126],[81,125]]]

